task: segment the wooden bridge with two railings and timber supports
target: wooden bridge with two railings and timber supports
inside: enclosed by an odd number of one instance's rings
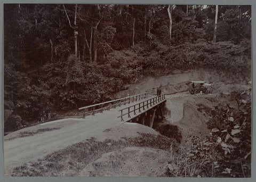
[[[154,118],[163,118],[162,105],[165,101],[165,94],[155,96],[146,92],[81,107],[79,110],[83,111],[81,117],[85,118],[86,115],[94,115],[99,112],[104,114],[103,111],[105,110],[115,109],[118,112],[113,112],[113,114],[118,113],[116,117],[120,118],[121,122],[138,122],[152,128]]]

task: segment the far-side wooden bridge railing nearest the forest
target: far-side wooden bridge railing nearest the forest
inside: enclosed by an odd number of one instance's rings
[[[102,102],[102,103],[98,103],[98,104],[93,104],[93,105],[89,105],[89,106],[85,106],[85,107],[80,107],[78,110],[84,110],[84,115],[83,118],[85,117],[85,114],[88,113],[92,113],[92,115],[95,114],[95,112],[103,112],[103,110],[109,110],[111,106],[113,106],[114,108],[119,105],[121,106],[122,104],[126,105],[126,103],[130,104],[131,102],[134,101],[140,101],[144,98],[146,98],[147,96],[147,92],[143,93],[143,94],[137,94],[137,95],[132,95],[132,96],[128,96],[128,97],[124,97],[124,98],[118,98],[116,100],[112,100],[112,101],[107,101],[107,102]],[[91,111],[87,111],[86,110],[91,110]]]

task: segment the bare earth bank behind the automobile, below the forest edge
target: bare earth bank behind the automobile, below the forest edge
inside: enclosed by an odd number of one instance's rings
[[[248,84],[244,80],[237,80],[234,78],[227,78],[223,73],[210,70],[188,70],[177,71],[170,75],[161,77],[147,77],[130,86],[129,89],[123,90],[117,94],[117,96],[126,96],[127,93],[139,94],[148,91],[149,94],[153,92],[153,88],[162,88],[163,93],[173,94],[183,92],[188,89],[187,82],[189,80],[202,80],[212,84],[213,93],[230,93],[232,90],[247,90]],[[155,93],[156,94],[156,93]]]

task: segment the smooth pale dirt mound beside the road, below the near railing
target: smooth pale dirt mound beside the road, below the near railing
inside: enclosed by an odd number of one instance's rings
[[[122,125],[118,125],[114,128],[109,128],[103,131],[103,133],[97,137],[99,141],[107,139],[118,140],[122,137],[138,137],[139,133],[158,135],[159,133],[153,128],[149,128],[144,125],[133,122],[125,122]]]

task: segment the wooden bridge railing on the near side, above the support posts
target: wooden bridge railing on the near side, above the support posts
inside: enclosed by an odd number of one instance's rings
[[[157,105],[158,103],[161,103],[164,100],[165,100],[165,94],[162,94],[153,98],[149,98],[148,100],[142,101],[138,104],[125,107],[124,109],[119,110],[121,111],[121,115],[119,115],[117,118],[121,118],[121,121],[124,121],[123,119],[124,115],[128,114],[128,118],[131,118],[131,113],[133,113],[133,115],[137,115],[136,114],[137,111],[139,113],[141,113],[141,110],[146,111],[146,109],[149,109],[150,107],[153,107],[154,105]]]

